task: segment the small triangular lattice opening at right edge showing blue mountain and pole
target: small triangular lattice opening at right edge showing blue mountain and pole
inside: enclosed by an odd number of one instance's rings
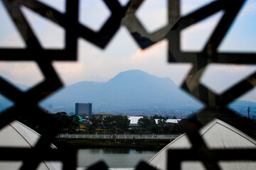
[[[228,105],[235,113],[246,118],[256,119],[256,88],[247,91],[246,94],[243,94],[239,98],[235,99],[235,101],[231,102]],[[248,114],[249,107],[249,114]]]

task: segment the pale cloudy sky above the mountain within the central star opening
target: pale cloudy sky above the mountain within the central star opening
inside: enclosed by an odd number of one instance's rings
[[[79,41],[79,61],[73,64],[77,71],[68,72],[72,67],[63,67],[64,64],[54,62],[55,69],[60,73],[65,84],[78,81],[108,81],[119,72],[129,69],[141,69],[157,77],[170,77],[176,84],[181,84],[191,68],[190,64],[167,63],[167,40],[163,40],[146,50],[141,50],[134,43],[131,35],[125,28],[121,28],[105,50],[101,50],[90,42]],[[82,65],[82,69],[77,69]]]

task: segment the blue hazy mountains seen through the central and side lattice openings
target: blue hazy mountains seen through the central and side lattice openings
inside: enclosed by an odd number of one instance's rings
[[[16,84],[26,91],[28,86]],[[14,103],[0,94],[0,112]],[[92,112],[121,113],[126,115],[175,115],[184,118],[203,108],[203,104],[189,96],[169,78],[159,78],[140,70],[121,72],[107,82],[80,81],[46,98],[40,106],[50,113],[75,112],[75,103],[92,103]],[[229,107],[247,115],[250,106],[256,117],[256,103],[234,101]]]

